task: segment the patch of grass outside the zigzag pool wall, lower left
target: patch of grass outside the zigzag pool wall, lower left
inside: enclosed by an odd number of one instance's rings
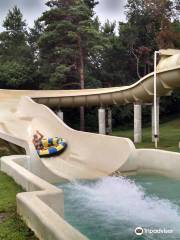
[[[0,240],[36,240],[16,213],[16,194],[22,192],[10,177],[0,172]]]

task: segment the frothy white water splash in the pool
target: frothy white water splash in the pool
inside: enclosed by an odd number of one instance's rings
[[[72,202],[96,212],[106,222],[127,222],[136,226],[179,229],[180,208],[169,200],[146,196],[135,182],[121,177],[107,177],[94,183],[66,185]],[[76,206],[77,207],[77,206]]]

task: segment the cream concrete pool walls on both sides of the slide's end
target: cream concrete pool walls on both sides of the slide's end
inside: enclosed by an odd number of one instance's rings
[[[18,214],[40,240],[88,240],[64,220],[63,191],[27,170],[28,161],[30,157],[27,155],[0,159],[0,170],[27,191],[17,194]],[[157,173],[180,179],[180,153],[136,149],[119,168],[122,175],[131,172]]]

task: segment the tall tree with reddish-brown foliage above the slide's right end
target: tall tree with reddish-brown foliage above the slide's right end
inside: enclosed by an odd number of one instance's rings
[[[136,60],[138,77],[152,71],[154,50],[175,47],[177,34],[172,21],[178,17],[177,6],[171,0],[128,0],[128,22],[120,26],[120,35]]]

